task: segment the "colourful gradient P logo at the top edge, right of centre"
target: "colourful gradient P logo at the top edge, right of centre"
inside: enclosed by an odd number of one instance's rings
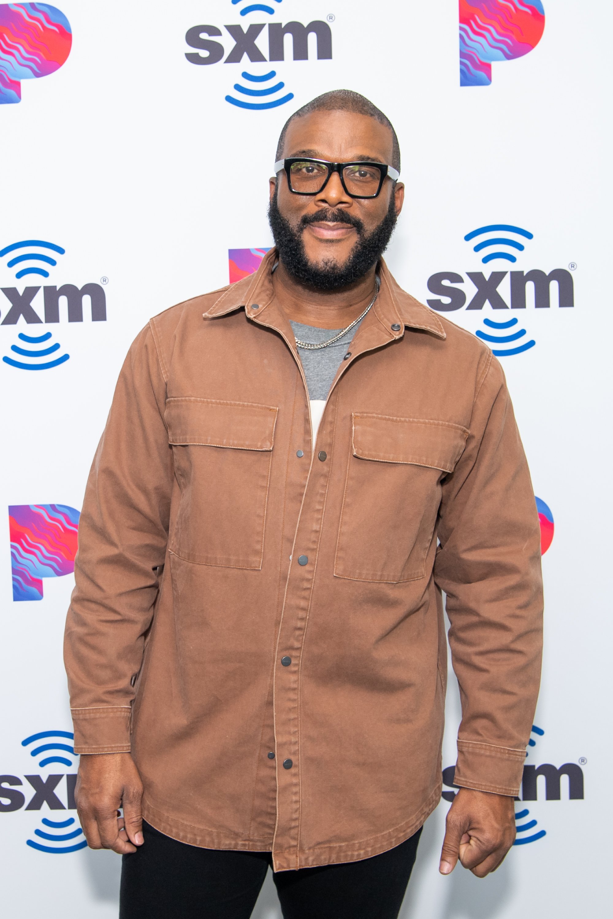
[[[460,86],[489,86],[492,62],[533,51],[544,29],[540,0],[460,0]]]

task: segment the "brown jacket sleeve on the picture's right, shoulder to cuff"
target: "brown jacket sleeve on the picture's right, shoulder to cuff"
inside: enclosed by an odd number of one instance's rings
[[[539,693],[540,528],[505,377],[488,361],[466,448],[443,485],[435,579],[460,684],[454,781],[517,795]]]

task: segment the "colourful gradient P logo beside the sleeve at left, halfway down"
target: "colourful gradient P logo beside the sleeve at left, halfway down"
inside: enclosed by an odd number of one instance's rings
[[[14,600],[41,600],[43,578],[74,572],[79,516],[68,505],[8,508]]]

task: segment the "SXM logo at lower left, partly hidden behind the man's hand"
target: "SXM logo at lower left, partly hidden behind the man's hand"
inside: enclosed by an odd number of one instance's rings
[[[30,734],[21,742],[22,747],[34,757],[39,769],[48,767],[57,769],[57,766],[64,766],[75,770],[78,757],[74,753],[73,744],[74,734],[70,731],[40,731]],[[19,790],[27,788],[26,782],[34,791],[28,804],[26,804],[26,795]],[[40,774],[0,776],[0,813],[20,811],[22,808],[24,811],[40,811],[44,805],[49,811],[74,811],[76,810],[75,785],[75,771],[55,772],[46,776]],[[62,814],[58,816],[61,817]],[[40,824],[40,827],[37,827],[32,834],[35,838],[26,840],[26,845],[31,849],[51,855],[66,855],[70,852],[78,852],[87,845],[83,830],[74,817],[67,817],[63,820],[42,817]]]

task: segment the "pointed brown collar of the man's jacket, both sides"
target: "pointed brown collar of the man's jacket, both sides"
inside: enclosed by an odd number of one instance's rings
[[[203,317],[216,319],[235,310],[244,310],[249,319],[261,321],[267,306],[274,299],[271,268],[276,258],[277,249],[273,248],[264,256],[254,275],[243,278],[225,289],[210,309],[202,313]],[[437,314],[399,286],[383,259],[380,260],[379,273],[380,293],[373,312],[376,312],[380,323],[389,331],[390,339],[402,337],[403,326],[422,329],[436,335],[437,338],[447,337]],[[400,324],[401,329],[392,331],[394,324]]]

